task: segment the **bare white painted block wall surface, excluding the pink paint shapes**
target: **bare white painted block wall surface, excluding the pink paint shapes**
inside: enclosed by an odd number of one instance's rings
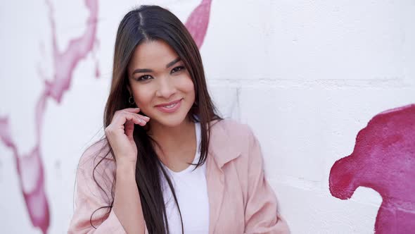
[[[60,103],[46,102],[41,159],[49,233],[68,228],[77,161],[102,134],[117,24],[145,3],[185,21],[199,1],[98,1],[93,52],[77,64]],[[51,4],[63,51],[82,35],[89,12],[80,0]],[[210,91],[225,117],[248,123],[260,139],[293,233],[373,233],[381,197],[362,187],[350,200],[332,197],[328,173],[373,116],[415,102],[414,12],[410,0],[212,0],[200,49]],[[0,3],[0,117],[8,116],[22,155],[36,144],[39,70],[49,79],[56,72],[48,13],[44,1]],[[27,214],[13,152],[2,142],[0,191],[4,233],[40,233]]]

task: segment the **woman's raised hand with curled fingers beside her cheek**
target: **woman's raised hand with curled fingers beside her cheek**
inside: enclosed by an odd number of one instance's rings
[[[106,137],[114,152],[117,164],[132,164],[137,160],[137,146],[134,142],[134,124],[144,126],[150,121],[139,114],[139,108],[115,111],[110,125],[105,129]]]

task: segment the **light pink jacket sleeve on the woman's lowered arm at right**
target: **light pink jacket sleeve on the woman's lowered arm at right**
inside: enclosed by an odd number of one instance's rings
[[[245,204],[244,233],[290,233],[278,213],[274,190],[264,177],[260,144],[252,131],[248,149],[248,199]]]

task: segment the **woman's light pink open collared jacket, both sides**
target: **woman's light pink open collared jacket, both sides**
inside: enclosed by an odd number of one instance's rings
[[[110,204],[115,161],[105,160],[96,169],[94,155],[103,144],[89,147],[79,161],[75,211],[68,233],[125,233]],[[105,147],[105,146],[104,146]],[[104,150],[101,154],[105,153]],[[248,125],[215,121],[212,125],[206,179],[210,205],[209,233],[289,233],[277,211],[274,191],[264,178],[260,144]]]

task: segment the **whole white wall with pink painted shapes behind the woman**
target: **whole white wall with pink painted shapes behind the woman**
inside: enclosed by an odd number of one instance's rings
[[[68,228],[117,24],[139,4],[193,32],[222,115],[260,139],[293,233],[414,230],[414,1],[51,0],[0,3],[4,233]]]

